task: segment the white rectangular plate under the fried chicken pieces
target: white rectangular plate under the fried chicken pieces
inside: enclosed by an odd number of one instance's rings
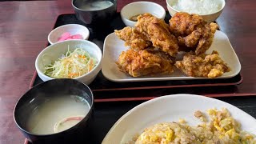
[[[202,77],[186,77],[180,70],[175,70],[174,74],[170,75],[155,75],[154,77],[140,77],[133,78],[118,70],[115,62],[118,61],[118,56],[122,51],[129,47],[124,46],[124,42],[120,40],[114,33],[109,34],[103,46],[102,59],[102,74],[114,82],[142,82],[142,81],[166,81],[166,80],[186,80],[186,79],[206,79]],[[217,30],[214,36],[214,42],[210,49],[206,51],[207,54],[213,50],[217,50],[220,57],[230,66],[231,71],[218,78],[232,78],[236,76],[241,70],[241,64],[238,60],[237,54],[230,45],[229,38],[222,31]]]

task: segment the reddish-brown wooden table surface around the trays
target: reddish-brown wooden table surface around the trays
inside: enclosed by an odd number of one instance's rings
[[[130,0],[119,0],[118,11]],[[164,0],[155,0],[166,8]],[[256,1],[226,0],[218,18],[242,64],[244,81],[239,86],[215,86],[191,89],[190,93],[256,95]],[[18,98],[29,89],[34,74],[34,61],[45,48],[47,35],[59,14],[74,13],[70,0],[0,2],[0,143],[22,143],[24,137],[14,124],[13,110]],[[160,96],[182,93],[177,90],[138,91],[134,94]],[[247,100],[246,100],[247,99]],[[248,100],[250,103],[248,104]],[[226,102],[230,102],[226,100]],[[256,98],[239,98],[247,107],[256,105]],[[254,104],[255,103],[255,104]]]

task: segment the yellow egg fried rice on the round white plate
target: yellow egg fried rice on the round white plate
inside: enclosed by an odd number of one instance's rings
[[[135,144],[171,144],[171,143],[222,143],[222,144],[253,144],[256,142],[254,134],[242,131],[230,112],[222,110],[207,110],[210,122],[203,122],[198,126],[190,126],[186,122],[162,122],[146,128],[135,141]],[[202,116],[202,115],[201,115]]]

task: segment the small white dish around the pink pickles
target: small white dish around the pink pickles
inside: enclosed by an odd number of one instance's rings
[[[90,31],[86,28],[86,26],[68,24],[58,26],[56,29],[52,30],[48,35],[48,42],[50,42],[51,45],[58,42],[58,38],[66,32],[69,32],[71,35],[81,34],[83,39],[88,39],[90,36]]]

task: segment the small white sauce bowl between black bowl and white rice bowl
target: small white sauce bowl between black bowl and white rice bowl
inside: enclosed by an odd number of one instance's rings
[[[166,10],[154,2],[132,2],[124,6],[120,14],[122,22],[126,26],[134,27],[136,22],[131,21],[130,18],[134,15],[145,13],[153,14],[155,17],[162,19],[166,17]]]

